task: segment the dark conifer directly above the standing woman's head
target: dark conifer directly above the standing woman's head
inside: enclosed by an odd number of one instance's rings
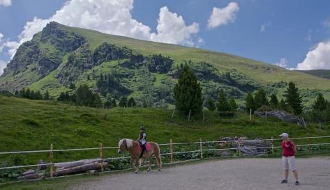
[[[303,102],[301,96],[299,95],[299,89],[296,88],[293,82],[289,83],[289,87],[285,91],[284,97],[285,102],[289,106],[290,111],[292,111],[295,115],[299,115],[303,111]]]

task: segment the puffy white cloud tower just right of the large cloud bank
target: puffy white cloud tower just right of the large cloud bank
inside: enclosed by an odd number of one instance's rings
[[[197,33],[200,26],[193,23],[186,26],[182,16],[172,13],[168,8],[160,8],[157,33],[151,33],[150,39],[157,42],[193,46],[191,35]]]

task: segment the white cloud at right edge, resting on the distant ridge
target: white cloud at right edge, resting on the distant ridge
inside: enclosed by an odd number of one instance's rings
[[[315,69],[330,69],[330,41],[320,42],[306,54],[303,62],[297,65],[297,70]]]

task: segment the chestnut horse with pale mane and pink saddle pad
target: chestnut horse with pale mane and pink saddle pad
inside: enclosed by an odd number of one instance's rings
[[[118,153],[123,153],[124,150],[128,150],[130,152],[130,166],[135,169],[135,173],[139,171],[139,167],[141,166],[140,155],[142,154],[142,148],[140,147],[140,143],[137,141],[133,141],[132,139],[123,138],[118,143]],[[157,143],[147,142],[146,145],[147,150],[142,155],[143,159],[149,159],[149,167],[147,171],[151,170],[151,163],[153,155],[156,157],[156,163],[158,166],[158,171],[162,168],[162,160],[160,157],[160,149]],[[134,166],[135,161],[135,166]]]

